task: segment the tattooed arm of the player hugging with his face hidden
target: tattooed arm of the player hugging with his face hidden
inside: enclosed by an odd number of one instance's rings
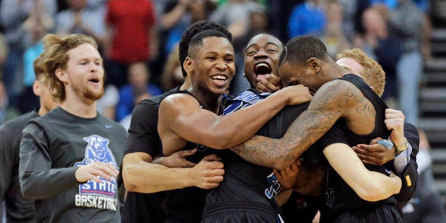
[[[337,119],[357,111],[364,95],[349,82],[333,80],[322,85],[308,109],[300,114],[280,139],[254,136],[231,148],[250,163],[282,170],[322,137]]]

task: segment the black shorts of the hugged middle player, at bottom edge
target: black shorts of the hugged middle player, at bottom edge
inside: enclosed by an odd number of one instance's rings
[[[219,202],[205,207],[202,222],[277,223],[278,213],[271,205],[247,201]]]

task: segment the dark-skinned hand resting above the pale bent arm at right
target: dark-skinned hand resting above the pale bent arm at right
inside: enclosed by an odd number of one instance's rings
[[[370,141],[370,145],[359,144],[353,146],[353,150],[365,165],[384,165],[384,163],[395,158],[395,147],[392,147],[392,149],[386,148],[384,145],[377,143],[380,139],[379,137],[373,139]]]

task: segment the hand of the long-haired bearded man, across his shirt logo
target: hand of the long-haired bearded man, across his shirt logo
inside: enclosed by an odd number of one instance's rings
[[[112,180],[116,178],[119,174],[119,170],[114,168],[110,163],[95,162],[88,165],[82,165],[75,172],[75,178],[78,182],[83,183],[88,180],[93,180],[97,183],[101,183],[102,177],[106,180]]]

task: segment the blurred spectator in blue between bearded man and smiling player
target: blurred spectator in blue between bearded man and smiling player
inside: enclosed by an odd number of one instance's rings
[[[158,86],[148,82],[150,75],[150,71],[144,62],[135,62],[129,66],[129,84],[119,89],[119,102],[115,117],[117,121],[121,121],[133,111],[136,105],[136,89],[146,89],[151,97],[163,93]]]

